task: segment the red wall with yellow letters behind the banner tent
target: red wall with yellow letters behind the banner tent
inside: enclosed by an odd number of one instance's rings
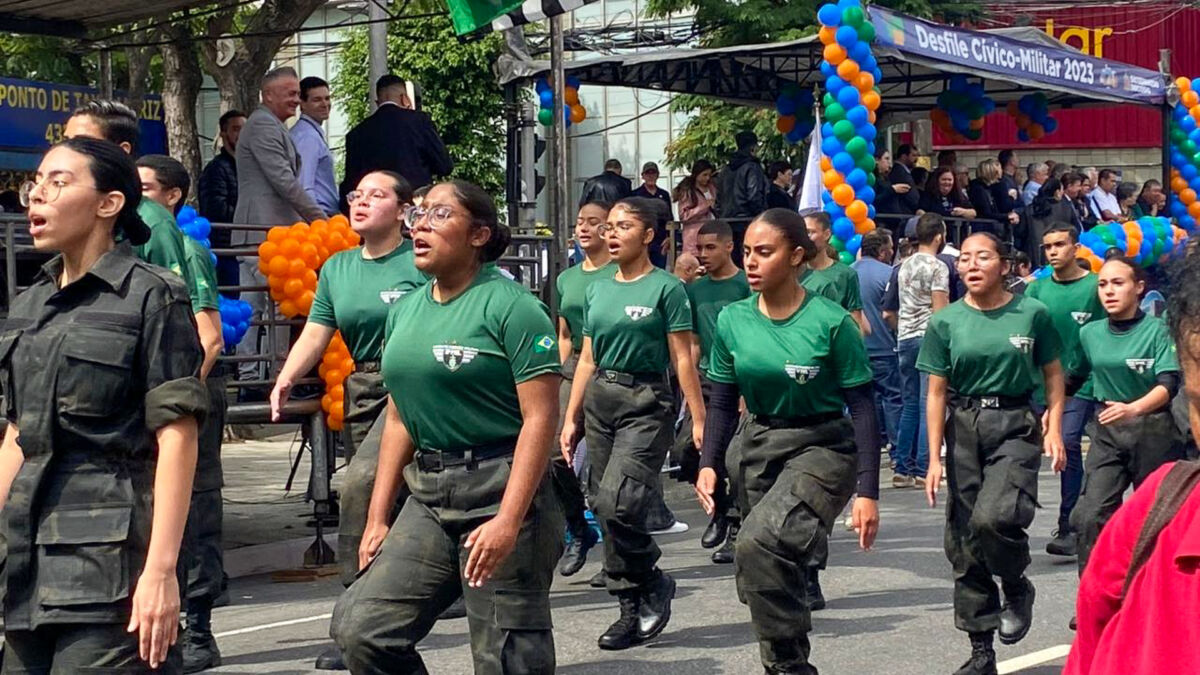
[[[1026,8],[1028,7],[1028,8]],[[992,4],[979,28],[1033,25],[1093,56],[1158,70],[1158,50],[1171,50],[1171,72],[1200,77],[1200,10],[1182,1],[1136,1],[1121,5],[1066,2]],[[1048,22],[1051,25],[1048,26]],[[1048,30],[1049,29],[1049,30]],[[988,117],[983,138],[950,145],[934,131],[938,148],[1157,148],[1162,143],[1158,110],[1138,106],[1057,109],[1058,130],[1040,141],[1018,143],[1016,124],[1007,113]]]

